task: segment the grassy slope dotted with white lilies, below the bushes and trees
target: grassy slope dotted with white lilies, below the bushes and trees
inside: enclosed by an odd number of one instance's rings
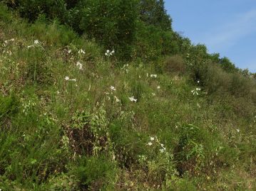
[[[3,190],[256,189],[254,104],[4,6],[0,28]]]

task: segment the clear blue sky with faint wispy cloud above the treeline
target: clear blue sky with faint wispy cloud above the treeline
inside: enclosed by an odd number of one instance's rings
[[[165,0],[173,29],[256,72],[256,0]]]

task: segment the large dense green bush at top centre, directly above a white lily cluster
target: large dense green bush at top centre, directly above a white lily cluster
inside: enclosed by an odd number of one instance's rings
[[[80,28],[120,58],[130,58],[138,18],[137,0],[88,0],[80,4]]]

